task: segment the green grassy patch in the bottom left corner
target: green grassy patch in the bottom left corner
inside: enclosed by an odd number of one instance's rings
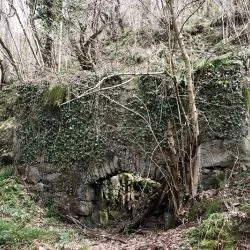
[[[0,249],[29,249],[36,240],[56,242],[60,235],[32,226],[38,219],[35,201],[18,182],[13,166],[0,168]]]

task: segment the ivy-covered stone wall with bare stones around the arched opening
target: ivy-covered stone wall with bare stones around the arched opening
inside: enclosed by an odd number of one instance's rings
[[[211,61],[195,72],[201,138],[208,142],[202,146],[203,162],[211,152],[206,145],[227,150],[246,132],[243,74],[240,64],[224,60]],[[94,74],[55,77],[17,87],[14,148],[21,174],[44,200],[56,204],[62,214],[83,216],[84,223],[102,221],[107,210],[103,204],[110,201],[103,203],[100,190],[112,176],[140,173],[161,182],[165,163],[157,145],[167,152],[166,125],[172,122],[177,138],[186,128],[180,124],[176,91],[167,76],[137,76],[129,84],[123,84],[127,78],[116,76],[103,81],[104,90],[93,88],[101,79]],[[182,75],[178,89],[187,112]],[[211,187],[211,174],[221,175],[221,162],[230,162],[231,154],[216,159],[212,170],[213,163],[204,162],[205,188]]]

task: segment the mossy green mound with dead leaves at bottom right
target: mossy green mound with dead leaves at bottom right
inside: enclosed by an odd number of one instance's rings
[[[229,187],[221,190],[223,196],[200,200],[189,209],[188,219],[199,222],[186,235],[193,249],[236,249],[249,239],[249,187],[249,174],[237,169]]]

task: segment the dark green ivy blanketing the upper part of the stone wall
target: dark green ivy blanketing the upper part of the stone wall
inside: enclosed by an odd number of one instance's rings
[[[202,137],[204,141],[237,139],[245,133],[241,67],[229,62],[213,63],[195,74]],[[168,120],[178,131],[176,95],[166,76],[139,76],[130,85],[112,88],[123,81],[114,77],[102,85],[110,88],[76,98],[88,93],[100,79],[85,76],[70,84],[54,80],[18,86],[20,162],[98,167],[127,147],[142,155],[150,154],[164,139]],[[60,88],[65,92],[58,91]],[[57,97],[53,97],[53,89],[59,92]],[[179,92],[184,108],[185,89],[181,80]]]

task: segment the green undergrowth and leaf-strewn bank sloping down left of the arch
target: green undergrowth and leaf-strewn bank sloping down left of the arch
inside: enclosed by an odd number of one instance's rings
[[[77,236],[51,212],[46,217],[46,211],[20,183],[13,166],[0,166],[0,249],[38,249],[42,242],[61,249]]]

